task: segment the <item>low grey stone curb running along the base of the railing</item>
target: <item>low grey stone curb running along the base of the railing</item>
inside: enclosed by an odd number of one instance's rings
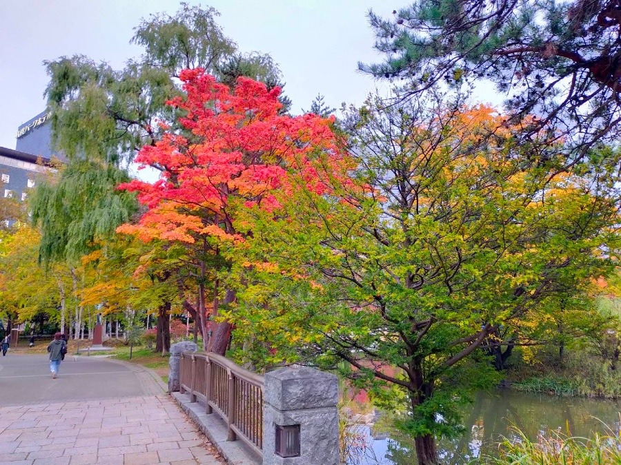
[[[170,393],[170,397],[179,404],[181,410],[188,414],[196,426],[208,437],[228,464],[261,465],[262,459],[241,440],[227,441],[228,426],[217,413],[207,415],[204,404],[190,402],[190,396],[178,392]]]

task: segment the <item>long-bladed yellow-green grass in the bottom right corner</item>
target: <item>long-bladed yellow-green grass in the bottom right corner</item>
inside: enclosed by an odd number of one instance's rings
[[[503,465],[613,465],[621,464],[621,437],[613,431],[591,439],[570,437],[559,431],[529,440],[517,430],[519,440],[504,439],[498,457],[482,457],[482,464]]]

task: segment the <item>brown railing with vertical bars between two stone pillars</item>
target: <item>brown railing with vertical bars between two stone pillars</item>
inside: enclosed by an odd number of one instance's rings
[[[264,378],[215,353],[181,353],[181,393],[202,400],[228,424],[228,440],[241,439],[263,456]]]

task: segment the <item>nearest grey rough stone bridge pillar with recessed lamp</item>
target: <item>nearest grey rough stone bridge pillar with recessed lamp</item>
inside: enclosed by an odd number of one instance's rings
[[[264,465],[339,464],[338,400],[331,373],[306,367],[266,373]]]

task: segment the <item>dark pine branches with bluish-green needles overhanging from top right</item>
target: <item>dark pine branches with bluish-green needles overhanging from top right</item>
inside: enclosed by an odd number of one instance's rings
[[[611,141],[621,121],[618,0],[417,0],[386,19],[369,13],[377,77],[418,93],[446,83],[494,83],[513,118],[528,114],[566,138],[574,158]]]

